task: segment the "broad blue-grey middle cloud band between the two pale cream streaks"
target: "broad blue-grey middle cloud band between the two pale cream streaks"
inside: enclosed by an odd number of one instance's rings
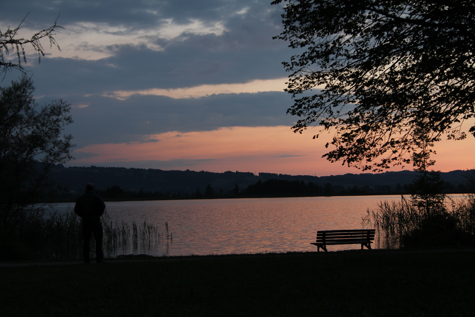
[[[244,17],[229,18],[229,28],[221,35],[149,38],[163,46],[161,51],[145,44],[102,48],[78,43],[83,49],[105,50],[112,56],[99,60],[45,58],[40,65],[31,58],[28,70],[34,74],[39,95],[57,96],[286,77],[281,62],[295,52],[285,42],[272,39],[280,29],[268,13],[249,11]]]

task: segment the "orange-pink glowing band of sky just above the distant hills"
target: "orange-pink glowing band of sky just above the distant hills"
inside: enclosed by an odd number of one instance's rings
[[[328,151],[324,144],[331,139],[332,134],[321,136],[316,140],[313,140],[312,136],[312,131],[295,134],[288,126],[229,127],[190,133],[168,132],[151,136],[152,139],[161,140],[159,142],[88,145],[76,149],[74,153],[98,155],[75,160],[68,165],[211,159],[211,161],[162,169],[315,174],[317,176],[362,173],[354,167],[342,166],[341,163],[329,163],[322,158],[322,155]],[[437,155],[431,157],[437,161],[434,169],[448,172],[473,168],[475,166],[474,145],[475,138],[472,136],[462,141],[440,141],[435,146]],[[412,170],[412,166],[406,166],[404,169]],[[390,169],[390,171],[399,170],[401,170],[399,166]]]

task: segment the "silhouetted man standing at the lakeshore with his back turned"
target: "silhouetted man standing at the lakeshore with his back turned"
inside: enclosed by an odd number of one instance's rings
[[[95,239],[95,261],[101,263],[104,258],[102,252],[102,225],[100,217],[104,213],[105,204],[101,196],[94,193],[94,185],[86,185],[86,192],[79,197],[74,206],[74,212],[83,219],[83,253],[84,262],[89,263],[90,247],[89,241],[94,233]]]

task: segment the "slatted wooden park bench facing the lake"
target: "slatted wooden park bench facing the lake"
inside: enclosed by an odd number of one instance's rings
[[[317,231],[317,240],[310,244],[317,246],[317,252],[320,252],[320,248],[328,252],[326,246],[335,244],[361,244],[361,249],[363,246],[371,249],[372,240],[374,229],[323,230]]]

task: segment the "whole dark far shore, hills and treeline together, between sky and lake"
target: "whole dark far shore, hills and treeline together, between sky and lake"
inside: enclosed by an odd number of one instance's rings
[[[52,181],[67,191],[57,198],[75,200],[86,183],[94,183],[96,192],[107,199],[175,199],[223,196],[304,196],[409,193],[416,172],[347,173],[314,176],[275,173],[207,171],[164,171],[123,167],[52,168]],[[466,193],[466,171],[440,173],[446,181],[446,193]]]

